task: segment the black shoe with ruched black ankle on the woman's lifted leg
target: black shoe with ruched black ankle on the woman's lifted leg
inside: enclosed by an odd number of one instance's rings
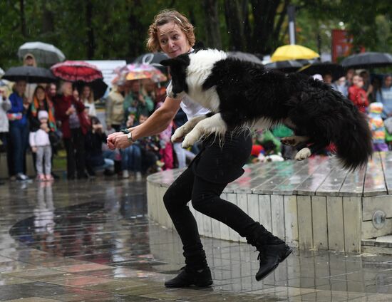
[[[247,242],[259,251],[257,260],[260,261],[260,268],[256,274],[257,281],[271,274],[280,262],[292,254],[290,246],[267,231],[261,224],[257,225],[250,236],[247,236]]]

